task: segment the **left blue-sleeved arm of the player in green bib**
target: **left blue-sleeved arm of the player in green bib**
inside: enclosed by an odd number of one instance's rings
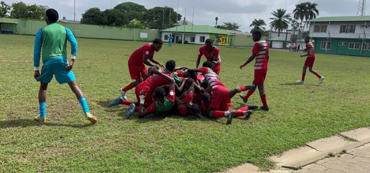
[[[36,33],[35,37],[35,45],[33,48],[33,68],[34,68],[34,75],[33,77],[37,79],[40,76],[40,57],[41,57],[41,48],[43,46],[43,31],[39,29]]]

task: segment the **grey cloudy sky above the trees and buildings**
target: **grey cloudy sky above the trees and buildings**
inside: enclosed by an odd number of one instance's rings
[[[12,4],[20,0],[3,0],[7,4]],[[73,20],[74,0],[22,0],[26,4],[45,5],[58,10],[60,18],[62,16]],[[201,1],[201,3],[200,3]],[[250,31],[249,25],[253,19],[263,19],[268,24],[270,14],[276,9],[287,9],[292,13],[295,4],[307,0],[131,0],[147,9],[156,6],[172,7],[177,10],[186,20],[192,21],[194,7],[194,24],[215,26],[215,17],[218,17],[218,24],[222,22],[236,22],[241,25],[240,30]],[[76,17],[80,20],[81,14],[87,9],[98,7],[100,10],[111,9],[117,4],[127,2],[125,0],[75,0]],[[312,3],[319,4],[319,17],[327,16],[356,16],[359,0],[311,0]],[[369,2],[369,1],[368,1]],[[178,6],[179,3],[179,6]],[[202,5],[201,5],[202,4]],[[367,3],[369,4],[369,3]],[[370,8],[370,6],[368,6]],[[369,11],[369,10],[367,10]],[[369,13],[365,13],[370,15]],[[269,28],[269,27],[266,27]]]

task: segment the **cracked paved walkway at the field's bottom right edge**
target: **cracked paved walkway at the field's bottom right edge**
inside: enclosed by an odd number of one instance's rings
[[[370,173],[370,129],[360,128],[319,139],[270,159],[276,163],[276,169],[269,172],[260,172],[258,167],[249,163],[226,172]]]

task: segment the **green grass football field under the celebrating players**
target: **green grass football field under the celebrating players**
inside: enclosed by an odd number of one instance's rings
[[[244,162],[268,170],[274,166],[271,155],[370,125],[370,59],[316,55],[314,69],[325,77],[323,84],[307,73],[306,84],[296,85],[305,58],[283,51],[270,51],[269,112],[236,118],[232,125],[225,125],[226,119],[179,116],[125,119],[128,106],[107,104],[131,82],[127,60],[144,42],[82,38],[73,70],[98,123],[90,125],[68,85],[53,79],[48,122],[41,124],[33,121],[39,88],[33,41],[33,36],[0,35],[0,172],[213,172]],[[155,58],[193,68],[198,48],[164,44]],[[252,82],[254,62],[239,69],[251,50],[220,47],[220,78],[229,89]],[[134,90],[128,97],[135,98]],[[238,96],[232,103],[244,106]],[[248,104],[262,105],[257,91]]]

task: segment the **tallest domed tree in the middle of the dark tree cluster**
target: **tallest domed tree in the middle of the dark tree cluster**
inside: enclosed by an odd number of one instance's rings
[[[114,7],[115,10],[119,10],[123,13],[125,13],[128,16],[128,21],[131,20],[143,20],[145,13],[147,12],[147,9],[145,9],[144,6],[133,3],[133,2],[125,2],[118,4]]]

